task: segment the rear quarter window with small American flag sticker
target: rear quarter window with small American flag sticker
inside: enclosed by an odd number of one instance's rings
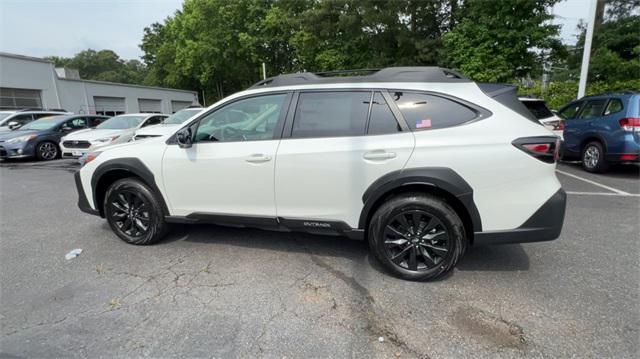
[[[439,96],[399,91],[391,96],[413,130],[456,126],[477,117],[469,107]]]

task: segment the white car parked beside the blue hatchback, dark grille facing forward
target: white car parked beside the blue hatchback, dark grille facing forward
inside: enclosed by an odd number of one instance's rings
[[[62,157],[80,158],[105,146],[131,140],[136,130],[161,123],[168,116],[156,113],[133,113],[112,117],[97,127],[73,132],[60,140]]]

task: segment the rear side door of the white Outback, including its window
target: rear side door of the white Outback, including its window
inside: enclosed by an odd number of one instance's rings
[[[388,102],[370,90],[297,95],[276,156],[278,217],[291,226],[340,225],[303,221],[316,220],[358,227],[364,191],[402,169],[414,146]]]

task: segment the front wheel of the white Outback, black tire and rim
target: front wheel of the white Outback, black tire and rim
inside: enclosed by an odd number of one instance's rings
[[[168,230],[153,190],[136,178],[114,182],[105,195],[104,214],[113,232],[130,244],[152,244]]]

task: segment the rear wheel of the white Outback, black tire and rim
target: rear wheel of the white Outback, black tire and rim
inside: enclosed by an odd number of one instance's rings
[[[464,225],[453,208],[421,193],[400,195],[382,204],[368,230],[372,254],[391,273],[407,280],[446,275],[467,247]]]

